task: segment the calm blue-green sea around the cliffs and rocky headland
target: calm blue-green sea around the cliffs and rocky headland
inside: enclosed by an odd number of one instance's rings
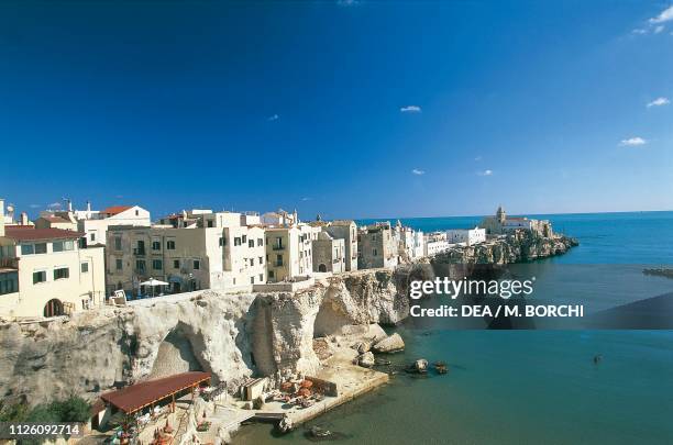
[[[580,242],[536,262],[544,270],[536,291],[545,300],[573,298],[600,311],[673,292],[673,279],[642,274],[673,267],[673,212],[530,216]],[[432,232],[471,227],[481,218],[400,220]],[[406,343],[390,356],[394,364],[443,360],[449,372],[401,372],[289,434],[243,426],[234,444],[309,444],[313,425],[343,444],[673,443],[673,331],[460,330],[442,319],[408,319],[387,330]]]

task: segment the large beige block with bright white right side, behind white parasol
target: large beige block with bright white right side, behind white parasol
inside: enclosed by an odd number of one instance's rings
[[[167,282],[159,292],[249,290],[266,282],[264,229],[241,225],[241,213],[201,213],[189,227],[113,226],[108,232],[108,292],[151,294],[142,282]]]

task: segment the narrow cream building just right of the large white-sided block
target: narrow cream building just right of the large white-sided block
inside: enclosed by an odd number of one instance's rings
[[[310,277],[313,271],[312,242],[320,232],[321,227],[309,224],[265,226],[268,281]]]

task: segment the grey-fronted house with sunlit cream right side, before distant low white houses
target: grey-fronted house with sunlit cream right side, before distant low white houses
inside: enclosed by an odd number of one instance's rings
[[[399,243],[390,222],[377,222],[357,234],[357,268],[395,267],[398,264]]]

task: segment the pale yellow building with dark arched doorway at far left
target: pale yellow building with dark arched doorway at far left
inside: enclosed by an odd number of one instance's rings
[[[0,214],[2,207],[0,200]],[[79,247],[74,231],[0,227],[0,318],[48,318],[104,303],[102,247]]]

